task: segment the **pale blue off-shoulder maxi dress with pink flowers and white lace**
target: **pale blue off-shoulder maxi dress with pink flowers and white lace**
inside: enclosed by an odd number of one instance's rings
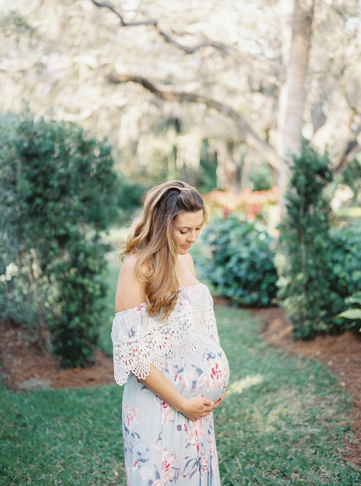
[[[117,312],[112,340],[115,381],[125,383],[127,485],[220,486],[213,413],[192,422],[138,380],[153,364],[184,397],[222,396],[229,366],[208,288],[182,288],[166,323],[150,318],[146,304]]]

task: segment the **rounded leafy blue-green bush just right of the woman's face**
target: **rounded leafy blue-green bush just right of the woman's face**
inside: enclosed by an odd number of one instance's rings
[[[221,295],[241,305],[267,306],[276,296],[278,280],[271,250],[273,238],[256,219],[254,223],[231,215],[210,224],[202,236],[210,259],[205,277]]]

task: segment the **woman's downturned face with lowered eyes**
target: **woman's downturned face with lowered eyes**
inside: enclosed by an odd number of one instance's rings
[[[173,221],[173,234],[178,244],[178,253],[185,255],[189,248],[197,241],[200,228],[203,225],[203,211],[183,212]]]

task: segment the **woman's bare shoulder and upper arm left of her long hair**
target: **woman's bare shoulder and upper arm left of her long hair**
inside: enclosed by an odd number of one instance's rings
[[[136,255],[129,255],[122,264],[115,295],[115,312],[132,309],[146,300],[144,283],[134,276],[136,262]]]

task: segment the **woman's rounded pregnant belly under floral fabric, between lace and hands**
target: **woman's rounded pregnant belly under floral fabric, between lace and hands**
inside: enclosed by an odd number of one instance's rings
[[[215,341],[199,343],[197,352],[184,353],[181,361],[168,358],[163,372],[184,397],[200,395],[213,401],[223,395],[230,378],[226,355]]]

